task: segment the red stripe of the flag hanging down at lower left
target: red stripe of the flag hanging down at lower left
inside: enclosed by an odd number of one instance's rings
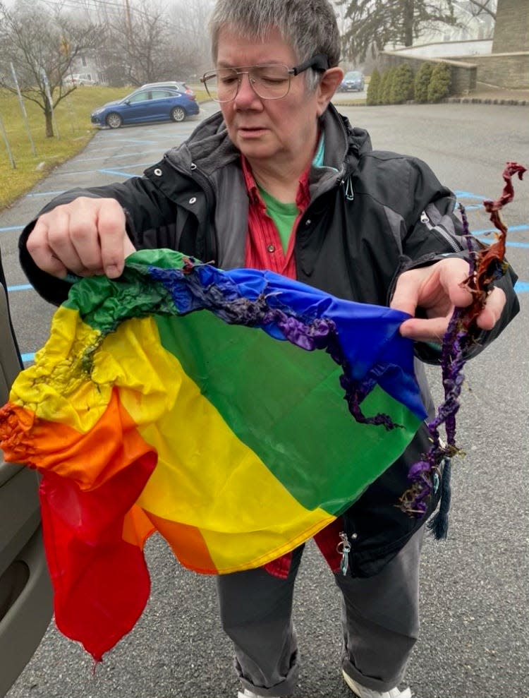
[[[96,661],[140,618],[150,592],[142,548],[123,540],[127,510],[156,464],[148,452],[95,491],[44,474],[42,528],[56,625]]]

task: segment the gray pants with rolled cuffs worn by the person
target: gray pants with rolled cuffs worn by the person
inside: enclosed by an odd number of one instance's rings
[[[403,679],[419,631],[419,562],[424,526],[382,572],[367,579],[335,574],[342,594],[342,666],[361,685],[389,691]],[[298,678],[292,622],[294,582],[262,570],[217,577],[221,621],[233,641],[241,683],[260,696],[288,696]]]

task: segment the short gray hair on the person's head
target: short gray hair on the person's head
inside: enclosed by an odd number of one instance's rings
[[[217,0],[209,22],[214,62],[222,28],[259,40],[266,40],[269,32],[277,28],[292,47],[298,63],[316,54],[327,55],[329,68],[337,66],[340,60],[340,32],[328,0]],[[320,73],[311,69],[307,79],[309,88],[315,89]]]

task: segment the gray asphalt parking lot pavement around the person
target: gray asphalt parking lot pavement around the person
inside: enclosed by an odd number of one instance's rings
[[[202,115],[213,110],[206,104]],[[483,104],[341,108],[370,130],[377,148],[427,160],[456,190],[471,229],[487,238],[483,198],[501,191],[506,160],[529,164],[527,111]],[[23,225],[55,193],[141,174],[195,121],[101,131],[87,148],[0,212],[0,246],[21,351],[42,345],[52,309],[18,266]],[[416,698],[529,698],[529,181],[506,208],[508,255],[518,270],[521,314],[466,367],[458,413],[449,538],[427,538],[422,560],[422,630],[408,667]],[[429,371],[437,402],[439,375]],[[152,594],[133,631],[92,666],[49,627],[8,698],[235,697],[231,649],[217,618],[214,579],[178,565],[164,542],[147,544]],[[339,596],[312,543],[295,599],[302,670],[295,698],[346,698],[339,673]]]

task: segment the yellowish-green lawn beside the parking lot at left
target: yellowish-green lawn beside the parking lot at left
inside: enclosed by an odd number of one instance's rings
[[[200,101],[205,92],[193,89]],[[11,167],[4,138],[0,133],[0,210],[8,207],[20,195],[43,179],[56,165],[68,160],[80,150],[97,131],[90,124],[90,112],[105,102],[128,95],[133,88],[104,88],[83,86],[77,88],[59,103],[55,119],[59,138],[46,138],[44,113],[37,104],[24,100],[30,132],[37,155],[33,155],[28,131],[25,127],[16,95],[0,90],[0,118],[15,161]]]

